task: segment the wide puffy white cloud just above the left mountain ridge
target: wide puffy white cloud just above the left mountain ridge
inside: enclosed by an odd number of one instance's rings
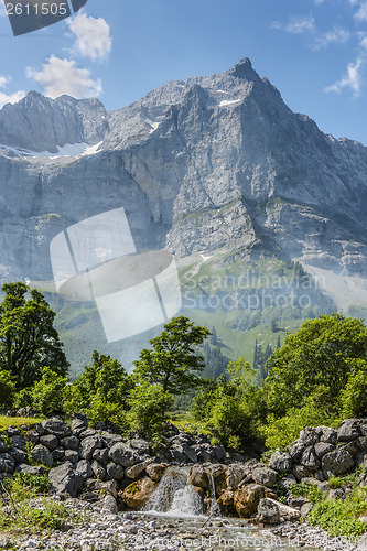
[[[26,68],[26,76],[43,86],[44,95],[56,98],[64,94],[75,98],[99,96],[102,91],[101,80],[93,80],[90,71],[79,68],[74,61],[61,60],[51,55],[41,71]]]

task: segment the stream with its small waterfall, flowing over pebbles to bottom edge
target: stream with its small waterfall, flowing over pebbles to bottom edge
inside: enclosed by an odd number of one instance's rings
[[[190,467],[169,468],[141,511],[142,516],[154,519],[161,529],[173,530],[181,549],[290,551],[296,548],[294,541],[281,540],[271,530],[258,528],[246,519],[222,517],[211,473],[208,510],[204,512],[203,500],[190,484],[188,473]],[[311,547],[303,549],[314,551]]]

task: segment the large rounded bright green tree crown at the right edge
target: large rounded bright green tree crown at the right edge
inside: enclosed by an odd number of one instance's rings
[[[281,417],[305,406],[323,387],[325,404],[337,413],[350,377],[367,372],[366,359],[367,328],[361,320],[334,313],[307,321],[269,359],[268,406]]]

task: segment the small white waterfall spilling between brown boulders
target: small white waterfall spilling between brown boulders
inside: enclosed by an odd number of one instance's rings
[[[179,518],[203,515],[202,500],[188,482],[188,469],[169,468],[144,510]]]

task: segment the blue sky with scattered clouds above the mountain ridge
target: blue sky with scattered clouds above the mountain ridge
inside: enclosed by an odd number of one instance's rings
[[[367,0],[88,0],[18,37],[0,3],[0,105],[36,89],[117,109],[247,56],[292,110],[367,145]]]

